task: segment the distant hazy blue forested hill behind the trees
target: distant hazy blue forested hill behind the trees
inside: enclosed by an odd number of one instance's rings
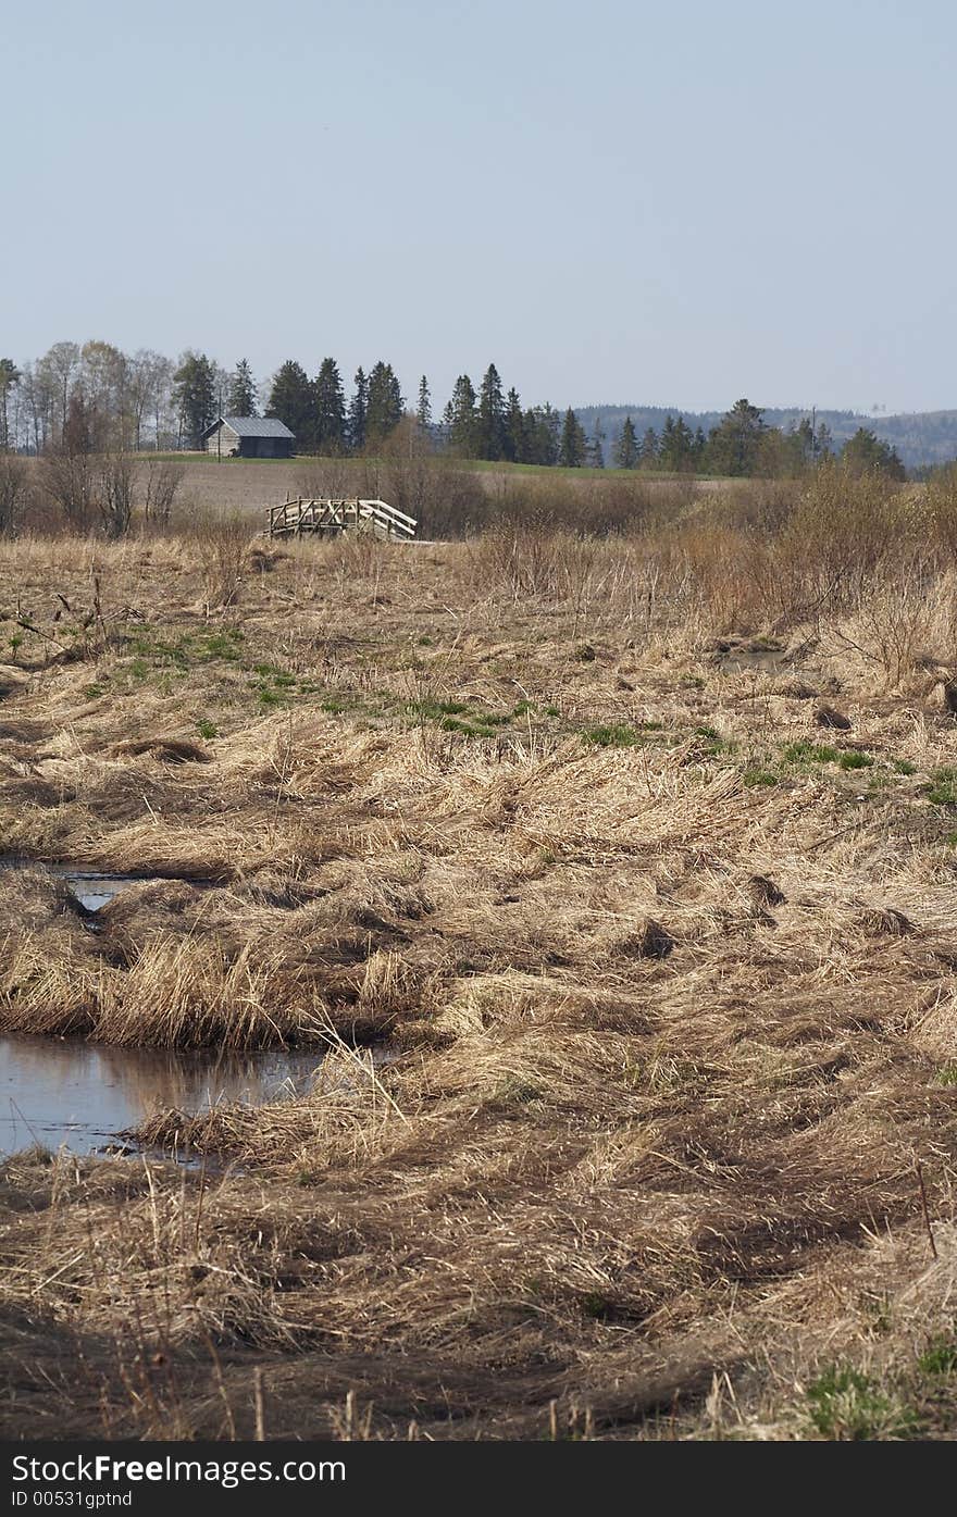
[[[710,432],[722,419],[722,411],[682,411],[678,405],[582,405],[576,407],[576,414],[588,437],[595,432],[596,420],[605,434],[605,463],[611,463],[611,451],[622,431],[625,417],[634,422],[635,432],[642,437],[649,426],[660,432],[664,417],[684,417],[686,423],[696,431]],[[783,431],[796,426],[810,411],[799,407],[773,408],[764,411],[769,426],[780,426]],[[922,464],[943,464],[957,458],[957,411],[915,411],[905,416],[864,416],[858,411],[817,411],[817,423],[824,422],[831,432],[834,446],[852,437],[858,426],[868,426],[884,441],[892,443],[901,455],[907,469],[919,469]]]

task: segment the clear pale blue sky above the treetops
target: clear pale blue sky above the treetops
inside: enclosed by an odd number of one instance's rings
[[[0,353],[957,407],[952,0],[5,8]]]

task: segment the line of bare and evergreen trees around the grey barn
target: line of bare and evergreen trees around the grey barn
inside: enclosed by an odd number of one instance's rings
[[[300,454],[361,455],[382,446],[403,417],[414,419],[437,451],[461,460],[551,464],[566,469],[605,467],[663,473],[746,476],[799,475],[834,457],[825,425],[808,420],[783,431],[764,422],[748,399],[737,400],[704,432],[681,416],[667,416],[660,431],[637,435],[631,417],[611,438],[596,422],[588,435],[576,413],[552,405],[525,407],[505,390],[488,364],[478,388],[463,373],[438,417],[428,378],[406,402],[390,363],[358,369],[352,391],[335,358],[323,358],[309,376],[287,360],[258,384],[241,358],[226,370],[209,355],[188,349],[173,361],[152,349],[123,353],[111,343],[55,343],[33,363],[18,367],[0,358],[0,451],[26,454],[106,454],[179,451],[202,446],[218,416],[262,414],[285,422]],[[855,472],[878,470],[904,478],[896,451],[860,428],[840,451]]]

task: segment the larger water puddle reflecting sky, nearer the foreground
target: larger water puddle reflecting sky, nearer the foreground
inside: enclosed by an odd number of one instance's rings
[[[159,1110],[262,1106],[311,1088],[322,1048],[250,1054],[0,1038],[0,1154],[30,1144],[85,1154]]]

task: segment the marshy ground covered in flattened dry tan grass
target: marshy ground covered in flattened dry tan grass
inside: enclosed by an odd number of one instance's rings
[[[949,581],[722,542],[0,548],[0,1032],[329,1050],[3,1164],[8,1437],[951,1437]]]

